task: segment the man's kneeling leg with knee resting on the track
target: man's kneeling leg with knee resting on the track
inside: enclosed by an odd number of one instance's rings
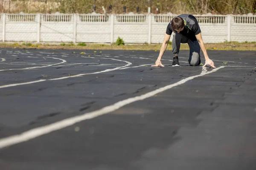
[[[189,44],[189,64],[191,66],[197,66],[201,64],[200,59],[200,45],[198,41],[192,41],[188,39]]]

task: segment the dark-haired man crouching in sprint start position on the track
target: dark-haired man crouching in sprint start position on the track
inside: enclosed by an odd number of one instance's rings
[[[200,49],[202,49],[205,58],[204,66],[210,65],[213,68],[215,68],[214,62],[212,62],[212,60],[209,59],[207,55],[207,51],[204,46],[204,41],[201,36],[201,29],[198,25],[198,21],[193,15],[189,14],[179,15],[173,18],[172,21],[168,24],[159,56],[157,58],[155,65],[152,66],[164,67],[164,65],[161,62],[161,59],[163,57],[164,52],[166,51],[172,32],[175,33],[172,39],[172,66],[180,66],[178,59],[180,43],[188,43],[189,65],[196,66],[201,64]]]

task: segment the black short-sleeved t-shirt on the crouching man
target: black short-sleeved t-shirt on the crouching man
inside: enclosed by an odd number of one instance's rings
[[[199,27],[199,24],[196,18],[193,15],[189,15],[189,14],[181,14],[178,17],[183,18],[183,20],[185,20],[186,22],[185,28],[182,31],[180,31],[180,34],[185,35],[192,41],[197,40],[195,35],[201,33],[201,29]],[[171,22],[167,26],[166,34],[168,35],[172,34]]]

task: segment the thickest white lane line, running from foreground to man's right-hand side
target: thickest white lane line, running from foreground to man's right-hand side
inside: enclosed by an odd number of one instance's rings
[[[21,142],[26,142],[26,141],[34,139],[38,136],[42,136],[42,135],[45,135],[47,133],[51,133],[55,130],[60,130],[60,129],[63,129],[65,127],[74,125],[78,122],[81,122],[81,121],[84,121],[84,120],[87,120],[87,119],[93,119],[95,117],[102,116],[104,114],[116,111],[117,109],[122,108],[125,105],[131,104],[133,102],[137,102],[137,101],[140,101],[140,100],[147,99],[151,96],[159,94],[159,93],[161,93],[163,91],[166,91],[170,88],[173,88],[177,85],[182,85],[183,83],[185,83],[189,80],[195,79],[196,77],[201,77],[201,76],[204,76],[206,74],[213,73],[213,72],[218,71],[219,69],[224,68],[224,67],[225,66],[221,66],[221,67],[215,68],[212,71],[209,71],[207,73],[198,74],[198,75],[195,75],[195,76],[188,77],[186,79],[182,79],[179,82],[176,82],[174,84],[166,85],[165,87],[158,88],[157,90],[148,92],[148,93],[140,95],[140,96],[131,97],[131,98],[128,98],[128,99],[121,100],[119,102],[114,103],[113,105],[106,106],[106,107],[101,108],[101,109],[96,110],[96,111],[92,111],[92,112],[89,112],[89,113],[84,113],[84,114],[79,115],[79,116],[70,117],[70,118],[67,118],[67,119],[49,124],[49,125],[36,127],[34,129],[25,131],[25,132],[23,132],[21,134],[18,134],[18,135],[13,135],[13,136],[9,136],[9,137],[6,137],[6,138],[2,138],[2,139],[0,139],[0,149],[4,148],[4,147],[12,146],[14,144],[18,144],[18,143],[21,143]]]

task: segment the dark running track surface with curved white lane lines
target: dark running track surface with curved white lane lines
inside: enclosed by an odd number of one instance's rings
[[[2,49],[0,170],[255,170],[256,52],[158,54]]]

